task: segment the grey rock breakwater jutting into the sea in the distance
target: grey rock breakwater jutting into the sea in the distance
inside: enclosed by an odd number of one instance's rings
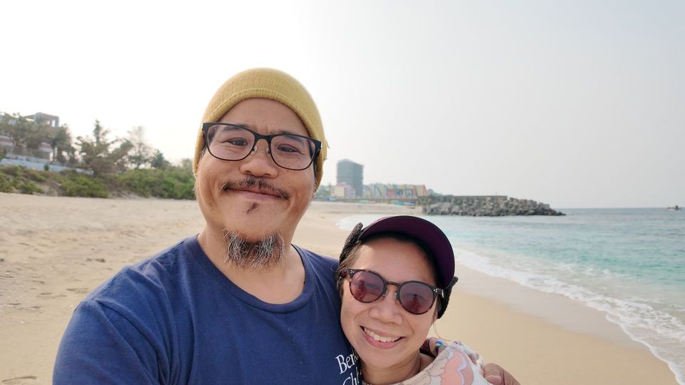
[[[506,215],[565,215],[546,203],[507,195],[430,195],[419,201],[427,215],[502,217]]]

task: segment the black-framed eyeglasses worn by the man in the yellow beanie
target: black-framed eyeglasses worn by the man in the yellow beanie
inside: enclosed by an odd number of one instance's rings
[[[202,123],[202,135],[207,150],[221,160],[243,160],[255,150],[260,139],[268,143],[273,162],[288,170],[305,170],[321,150],[319,140],[304,135],[260,135],[242,125],[230,123]]]

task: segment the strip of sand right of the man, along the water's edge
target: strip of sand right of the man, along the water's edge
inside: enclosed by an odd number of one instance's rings
[[[352,205],[313,202],[295,242],[337,257],[348,231],[336,224],[345,217],[422,215],[408,207]],[[665,361],[599,310],[458,263],[457,275],[450,308],[432,334],[462,340],[521,384],[677,384]]]

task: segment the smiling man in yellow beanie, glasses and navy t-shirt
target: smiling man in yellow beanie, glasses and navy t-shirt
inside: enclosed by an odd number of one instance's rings
[[[360,384],[337,262],[291,244],[328,147],[313,99],[283,72],[248,70],[203,122],[193,167],[204,229],[88,294],[54,383]]]

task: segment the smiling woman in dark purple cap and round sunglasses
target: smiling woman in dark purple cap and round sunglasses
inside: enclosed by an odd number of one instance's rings
[[[419,217],[385,217],[347,237],[340,255],[340,322],[367,384],[487,384],[470,349],[420,352],[457,282],[452,245]]]

